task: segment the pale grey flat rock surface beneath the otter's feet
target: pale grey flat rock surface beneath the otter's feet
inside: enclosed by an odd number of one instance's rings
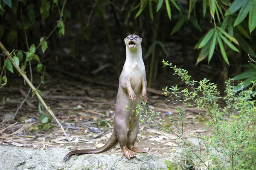
[[[68,152],[0,145],[0,170],[167,170],[166,158],[149,153],[137,153],[130,160],[123,154],[84,154],[63,162]]]

